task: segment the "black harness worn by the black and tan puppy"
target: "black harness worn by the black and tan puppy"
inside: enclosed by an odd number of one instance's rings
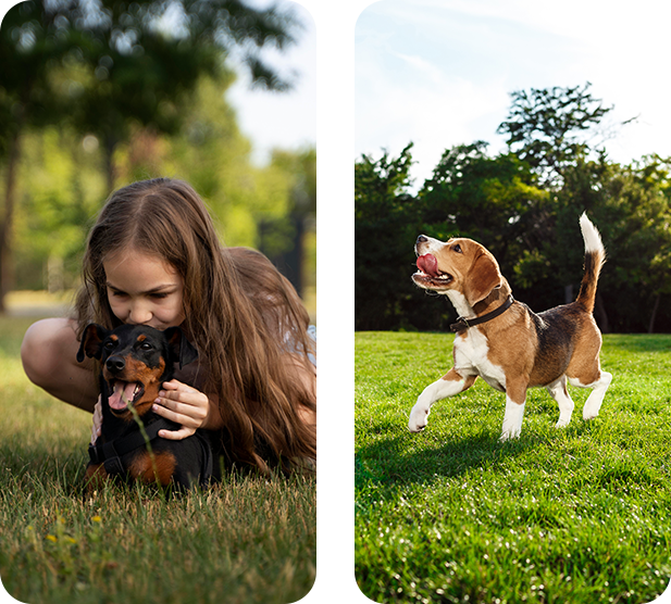
[[[145,431],[151,442],[159,438],[159,430],[171,430],[173,428],[174,424],[169,423],[166,419],[159,418],[145,426]],[[203,464],[200,471],[200,485],[206,487],[213,474],[212,449],[200,432],[197,431],[192,437],[198,439],[198,443],[202,449]],[[103,464],[104,470],[110,476],[125,476],[127,468],[124,466],[122,457],[141,446],[147,446],[147,442],[145,441],[145,436],[138,428],[110,442],[89,444],[88,456],[91,464]]]

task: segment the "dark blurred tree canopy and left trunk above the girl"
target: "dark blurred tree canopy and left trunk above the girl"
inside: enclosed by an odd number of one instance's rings
[[[261,55],[284,48],[299,24],[291,12],[241,0],[10,0],[0,5],[0,312],[10,288],[16,165],[25,128],[67,117],[105,151],[108,190],[114,152],[133,124],[175,133],[202,74],[237,61],[253,85],[289,84]],[[60,109],[60,112],[58,111]]]

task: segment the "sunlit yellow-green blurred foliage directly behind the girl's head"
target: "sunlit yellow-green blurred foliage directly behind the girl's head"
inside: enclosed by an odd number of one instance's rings
[[[225,86],[211,78],[198,83],[179,135],[133,128],[115,153],[117,184],[165,175],[183,178],[207,201],[226,244],[258,247],[259,223],[287,221],[296,211],[294,198],[303,189],[308,192],[301,199],[311,197],[298,210],[303,215],[315,210],[316,152],[277,151],[270,165],[253,166],[251,144],[239,131]],[[98,138],[82,138],[67,127],[24,137],[14,228],[16,288],[76,285],[86,235],[107,197],[103,158]],[[285,253],[295,241],[290,232],[275,231],[274,251]],[[51,277],[46,272],[50,262],[57,267]]]

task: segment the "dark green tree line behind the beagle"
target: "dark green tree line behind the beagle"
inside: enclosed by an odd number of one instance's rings
[[[451,309],[408,285],[420,234],[483,243],[536,312],[574,299],[586,211],[609,259],[597,292],[600,328],[671,330],[670,162],[650,155],[619,165],[589,149],[586,133],[610,110],[587,88],[513,92],[499,127],[510,151],[489,155],[484,141],[447,149],[414,196],[410,147],[398,160],[355,162],[357,329],[446,329]]]

